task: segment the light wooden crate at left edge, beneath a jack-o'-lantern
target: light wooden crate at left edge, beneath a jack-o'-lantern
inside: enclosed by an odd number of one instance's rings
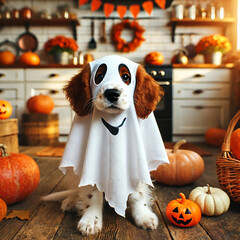
[[[0,120],[0,143],[7,146],[9,153],[18,153],[18,120],[16,118]]]

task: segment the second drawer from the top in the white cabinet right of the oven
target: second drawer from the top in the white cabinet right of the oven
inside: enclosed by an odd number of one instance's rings
[[[175,83],[173,84],[173,98],[229,98],[230,84],[224,83]]]

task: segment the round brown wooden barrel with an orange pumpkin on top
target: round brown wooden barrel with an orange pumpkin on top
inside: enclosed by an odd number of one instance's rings
[[[43,146],[58,143],[58,114],[24,113],[23,143],[27,146]]]

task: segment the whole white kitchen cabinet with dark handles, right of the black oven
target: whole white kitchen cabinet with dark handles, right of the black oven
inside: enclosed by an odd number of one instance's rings
[[[173,70],[173,140],[202,141],[210,127],[226,128],[230,118],[231,69]]]

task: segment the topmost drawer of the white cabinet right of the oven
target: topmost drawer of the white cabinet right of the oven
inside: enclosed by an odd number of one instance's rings
[[[173,81],[184,82],[230,82],[231,70],[219,68],[175,68]]]

